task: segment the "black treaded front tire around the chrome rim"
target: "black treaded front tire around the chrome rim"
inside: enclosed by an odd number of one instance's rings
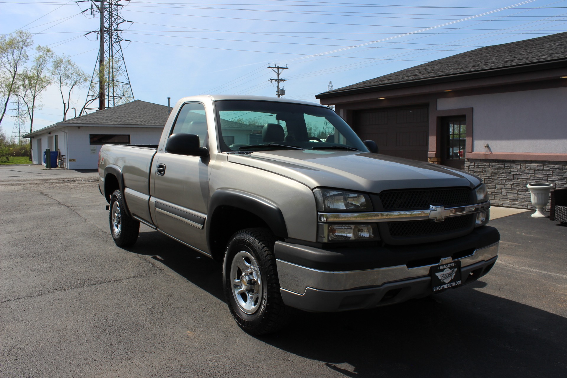
[[[280,294],[276,258],[273,253],[275,241],[272,232],[265,228],[247,228],[232,235],[226,248],[223,263],[223,283],[230,313],[240,328],[254,335],[276,332],[284,327],[291,317],[292,309],[284,304]],[[246,263],[246,258],[249,256],[256,260],[256,268],[251,266],[247,271],[254,271],[246,277],[253,275],[259,279],[251,279],[249,282],[256,281],[256,284],[251,286],[253,287],[252,290],[244,291],[242,287],[239,288],[240,283],[236,284],[233,281],[232,275],[238,278],[238,269],[240,268],[236,268],[236,273],[233,269],[241,259]],[[250,262],[253,263],[253,261]],[[246,281],[246,278],[244,280]],[[240,294],[242,302],[237,299],[236,291],[238,290],[244,292],[244,294]],[[256,293],[254,290],[261,290],[261,292]],[[248,298],[257,296],[257,302],[249,301],[252,304],[251,307],[255,307],[255,310],[244,308],[242,303],[245,296],[248,296]]]

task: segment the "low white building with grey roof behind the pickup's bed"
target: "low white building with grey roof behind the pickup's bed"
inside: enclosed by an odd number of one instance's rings
[[[104,143],[157,145],[169,116],[164,105],[136,100],[24,135],[31,138],[32,162],[43,164],[44,151],[61,151],[67,169],[94,169]]]

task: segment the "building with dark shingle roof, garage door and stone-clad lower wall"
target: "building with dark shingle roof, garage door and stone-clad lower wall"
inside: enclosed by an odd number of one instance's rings
[[[380,153],[466,169],[493,204],[567,186],[567,32],[485,46],[316,96]]]

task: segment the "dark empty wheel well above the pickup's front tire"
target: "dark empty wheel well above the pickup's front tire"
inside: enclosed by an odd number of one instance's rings
[[[229,239],[236,231],[252,227],[270,227],[259,216],[233,206],[219,206],[211,216],[209,245],[211,256],[222,261]]]

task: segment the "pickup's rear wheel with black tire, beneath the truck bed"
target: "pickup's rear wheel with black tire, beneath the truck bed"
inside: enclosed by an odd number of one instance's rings
[[[119,223],[119,227],[115,224],[115,220]],[[119,247],[130,247],[138,240],[140,223],[126,213],[126,203],[118,189],[110,197],[108,223],[112,239]]]

